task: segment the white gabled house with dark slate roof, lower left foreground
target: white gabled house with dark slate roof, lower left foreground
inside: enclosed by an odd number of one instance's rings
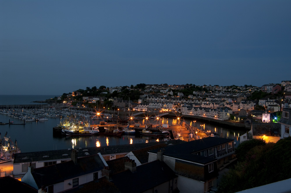
[[[102,155],[77,158],[77,151],[72,153],[72,160],[40,168],[28,167],[21,181],[40,190],[45,186],[48,192],[62,192],[72,187],[101,178],[101,170],[108,166]]]

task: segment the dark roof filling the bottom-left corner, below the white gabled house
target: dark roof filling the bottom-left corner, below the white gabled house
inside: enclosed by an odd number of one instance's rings
[[[0,178],[1,192],[38,192],[34,187],[27,185],[15,178],[5,176]]]

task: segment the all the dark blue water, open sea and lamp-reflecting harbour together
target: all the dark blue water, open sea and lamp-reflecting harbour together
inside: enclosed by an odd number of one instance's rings
[[[39,104],[33,103],[32,101],[44,101],[46,99],[54,98],[59,95],[0,95],[0,104],[8,108],[16,107],[18,105],[26,104]],[[49,118],[47,121],[38,122],[26,122],[25,125],[16,125],[17,123],[23,123],[22,120],[9,117],[7,115],[0,114],[0,122],[8,123],[13,121],[14,124],[0,125],[1,138],[6,134],[6,137],[11,139],[11,142],[15,143],[20,147],[21,152],[37,152],[37,151],[49,151],[49,150],[60,150],[60,149],[72,149],[72,148],[86,148],[94,146],[109,146],[109,145],[122,145],[122,144],[134,144],[134,143],[145,143],[159,141],[156,137],[145,137],[138,135],[122,135],[121,137],[116,136],[82,136],[82,137],[69,137],[59,135],[53,132],[53,127],[62,121],[61,118]],[[88,118],[91,124],[98,124],[97,121],[104,120],[91,120]],[[144,123],[144,119],[137,120],[136,122]],[[150,120],[151,123],[156,124],[156,120]],[[162,117],[160,124],[177,124],[177,119]],[[199,129],[205,131],[215,131],[224,138],[234,139],[236,145],[239,144],[239,136],[246,133],[246,130],[237,130],[231,128],[221,128],[221,126],[205,123],[203,121],[196,121],[194,119],[184,119],[186,124],[196,126]],[[179,124],[179,123],[178,123]],[[161,139],[160,139],[161,140]]]

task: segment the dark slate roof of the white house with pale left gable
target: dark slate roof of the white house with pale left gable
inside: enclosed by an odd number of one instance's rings
[[[104,168],[104,163],[99,155],[78,158],[77,164],[72,160],[35,168],[31,174],[39,188],[63,182],[64,180],[97,172]]]

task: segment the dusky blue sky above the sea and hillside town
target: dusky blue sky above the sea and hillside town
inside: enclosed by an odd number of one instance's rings
[[[291,80],[291,1],[0,0],[0,94]]]

